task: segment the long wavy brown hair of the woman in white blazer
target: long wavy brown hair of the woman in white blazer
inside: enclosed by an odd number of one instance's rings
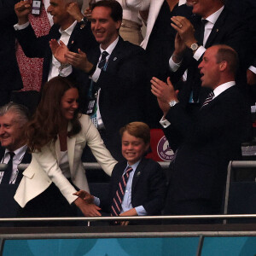
[[[60,76],[44,84],[36,113],[26,125],[27,146],[32,152],[40,151],[44,145],[56,140],[62,125],[61,98],[71,88],[77,88],[75,82]],[[81,130],[78,111],[74,113],[70,122],[72,130],[68,131],[68,137],[72,137]]]

